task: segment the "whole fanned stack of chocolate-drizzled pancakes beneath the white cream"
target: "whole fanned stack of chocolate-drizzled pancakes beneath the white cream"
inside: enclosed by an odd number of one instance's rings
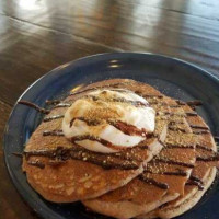
[[[76,100],[96,89],[124,89],[145,97],[157,112],[153,134],[134,148],[107,154],[70,142],[61,131],[62,117]],[[95,212],[123,219],[172,218],[191,209],[215,180],[216,143],[192,102],[141,82],[112,79],[54,103],[23,155],[28,183],[47,200],[81,200]]]

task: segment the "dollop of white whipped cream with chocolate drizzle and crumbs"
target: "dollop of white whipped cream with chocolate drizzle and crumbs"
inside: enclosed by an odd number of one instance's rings
[[[145,134],[154,130],[154,120],[155,111],[143,97],[124,89],[104,89],[88,93],[67,110],[62,131],[66,138],[74,139],[77,145],[88,150],[112,153],[145,140]],[[115,125],[117,123],[135,126],[143,132],[127,135]]]

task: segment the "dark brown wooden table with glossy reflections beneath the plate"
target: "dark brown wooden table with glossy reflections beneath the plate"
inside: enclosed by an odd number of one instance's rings
[[[150,51],[219,76],[218,0],[1,0],[0,132],[22,92],[67,61]],[[0,148],[0,218],[38,218],[12,185]]]

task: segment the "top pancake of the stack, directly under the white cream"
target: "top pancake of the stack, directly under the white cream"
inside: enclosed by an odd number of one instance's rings
[[[94,198],[126,185],[142,173],[147,162],[162,149],[166,136],[166,119],[155,116],[154,134],[138,146],[117,153],[102,154],[88,151],[64,137],[62,116],[78,99],[95,89],[128,89],[159,96],[150,85],[127,79],[115,79],[90,84],[71,93],[56,104],[33,132],[25,146],[23,171],[31,186],[45,199],[71,203]],[[25,102],[20,102],[30,105]],[[155,105],[154,105],[155,107]],[[163,106],[168,112],[169,107]],[[168,115],[166,115],[168,117]]]

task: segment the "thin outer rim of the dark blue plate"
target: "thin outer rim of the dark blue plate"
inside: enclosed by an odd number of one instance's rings
[[[45,209],[43,211],[41,211],[41,209],[38,209],[38,206],[41,207],[41,205],[37,204],[37,201],[34,201],[31,196],[26,196],[26,192],[22,189],[22,186],[19,184],[19,178],[16,178],[14,175],[13,175],[13,171],[11,170],[10,168],[10,164],[8,162],[8,158],[5,155],[5,148],[7,148],[7,132],[8,132],[8,128],[9,128],[9,123],[12,118],[12,115],[15,111],[15,107],[18,105],[18,102],[36,84],[38,83],[41,80],[43,80],[44,78],[46,77],[49,77],[50,74],[53,73],[56,73],[60,70],[64,70],[64,69],[68,69],[69,67],[72,67],[74,64],[77,62],[83,62],[83,61],[87,61],[87,60],[91,60],[91,59],[95,59],[95,58],[102,58],[102,57],[105,57],[105,58],[110,58],[111,56],[150,56],[150,57],[159,57],[159,58],[164,58],[166,60],[174,60],[176,62],[180,62],[180,64],[183,64],[183,65],[186,65],[186,66],[189,66],[192,67],[193,69],[197,69],[199,71],[199,73],[201,72],[203,74],[206,74],[208,77],[209,80],[212,80],[216,84],[218,84],[219,87],[219,78],[215,74],[212,74],[211,72],[209,72],[208,70],[193,64],[193,62],[189,62],[189,61],[186,61],[186,60],[183,60],[183,59],[180,59],[180,58],[176,58],[176,57],[171,57],[171,56],[168,56],[168,55],[162,55],[162,54],[155,54],[155,53],[138,53],[138,51],[116,51],[116,53],[102,53],[102,54],[94,54],[94,55],[90,55],[90,56],[85,56],[85,57],[81,57],[81,58],[78,58],[78,59],[74,59],[74,60],[71,60],[71,61],[68,61],[66,64],[62,64],[62,65],[59,65],[58,67],[49,70],[48,72],[46,72],[45,74],[43,74],[42,77],[39,77],[38,79],[36,79],[33,83],[31,83],[31,85],[28,85],[24,92],[19,96],[19,99],[16,100],[16,102],[13,104],[12,106],[12,110],[11,110],[11,113],[8,117],[8,120],[5,123],[5,126],[4,126],[4,129],[3,129],[3,135],[2,135],[2,149],[3,149],[3,161],[4,161],[4,164],[5,164],[5,168],[7,168],[7,172],[8,172],[8,175],[10,176],[10,181],[12,182],[13,186],[15,187],[16,192],[19,193],[20,197],[22,198],[22,200],[28,206],[32,208],[33,211],[35,211],[38,216],[41,216],[42,218],[54,218],[54,217],[59,217],[60,218],[60,215],[58,215],[57,212],[55,212],[54,210],[49,209],[48,207],[48,210]],[[32,188],[33,189],[33,188]],[[46,215],[46,216],[45,216]],[[61,216],[62,218],[62,216]]]

